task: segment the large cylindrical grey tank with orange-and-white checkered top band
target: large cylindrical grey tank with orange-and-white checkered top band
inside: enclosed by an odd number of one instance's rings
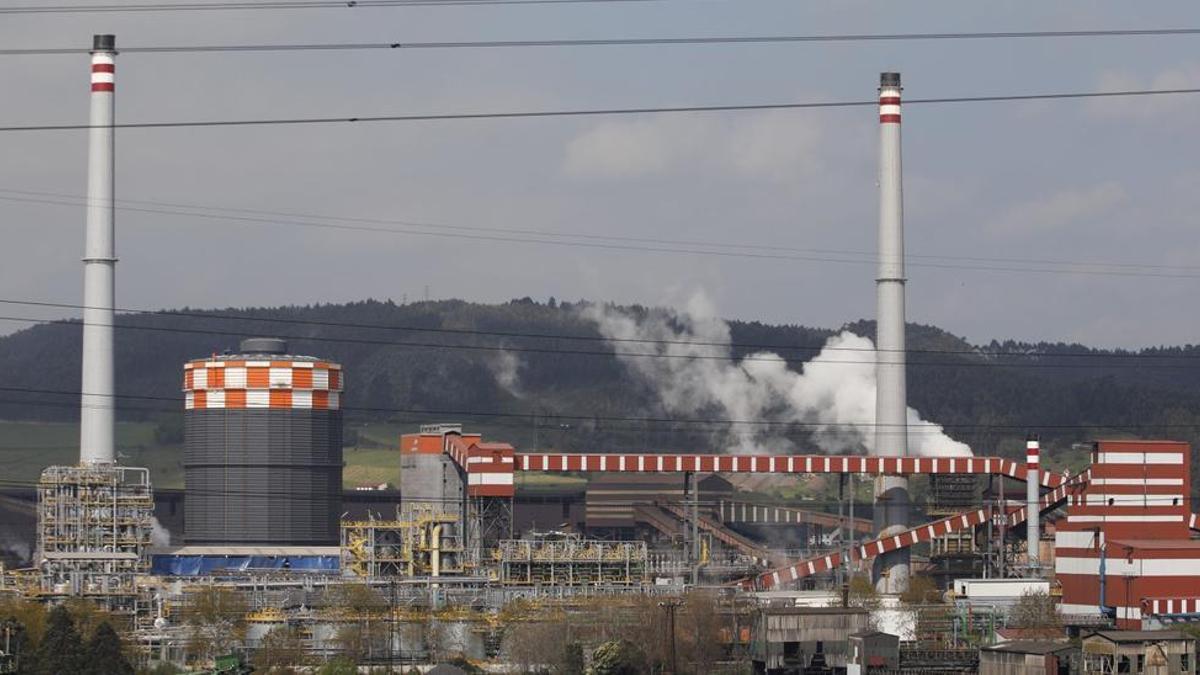
[[[242,340],[184,365],[184,538],[199,545],[336,545],[342,366]]]

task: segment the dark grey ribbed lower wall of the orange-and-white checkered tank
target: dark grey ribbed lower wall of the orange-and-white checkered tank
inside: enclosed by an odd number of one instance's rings
[[[338,543],[341,411],[187,411],[184,470],[188,544]]]

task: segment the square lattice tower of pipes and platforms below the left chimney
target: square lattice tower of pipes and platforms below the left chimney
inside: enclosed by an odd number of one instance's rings
[[[37,593],[132,610],[136,575],[149,567],[152,527],[149,470],[47,467],[37,484]]]

